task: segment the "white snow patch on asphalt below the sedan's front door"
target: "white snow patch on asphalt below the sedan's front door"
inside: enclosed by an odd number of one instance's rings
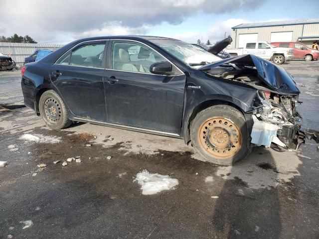
[[[169,190],[178,185],[178,180],[168,175],[150,173],[146,169],[136,175],[135,182],[141,185],[142,194],[151,195],[163,190]]]

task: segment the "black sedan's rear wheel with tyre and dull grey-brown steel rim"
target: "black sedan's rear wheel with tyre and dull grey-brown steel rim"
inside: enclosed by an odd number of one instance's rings
[[[68,112],[61,97],[53,90],[44,92],[39,100],[42,119],[52,129],[66,128],[71,125]]]

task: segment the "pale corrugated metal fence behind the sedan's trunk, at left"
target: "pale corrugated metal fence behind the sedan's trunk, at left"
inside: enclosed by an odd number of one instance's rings
[[[11,58],[16,63],[23,63],[24,58],[32,55],[36,49],[58,49],[62,44],[48,44],[48,43],[9,43],[0,42],[0,53],[4,55],[11,55]]]

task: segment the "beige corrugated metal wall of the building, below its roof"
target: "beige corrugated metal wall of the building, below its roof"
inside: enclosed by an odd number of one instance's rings
[[[303,31],[304,28],[304,31]],[[236,36],[237,31],[237,36]],[[298,41],[300,36],[319,36],[319,24],[269,26],[232,29],[233,42],[231,47],[238,47],[239,34],[258,33],[258,41],[270,41],[272,32],[293,31],[293,41]],[[236,46],[235,46],[236,42]]]

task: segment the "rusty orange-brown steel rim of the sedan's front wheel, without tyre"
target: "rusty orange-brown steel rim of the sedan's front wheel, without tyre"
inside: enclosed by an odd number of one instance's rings
[[[215,158],[227,158],[238,152],[242,135],[230,119],[214,117],[206,120],[198,130],[198,139],[209,154]]]

